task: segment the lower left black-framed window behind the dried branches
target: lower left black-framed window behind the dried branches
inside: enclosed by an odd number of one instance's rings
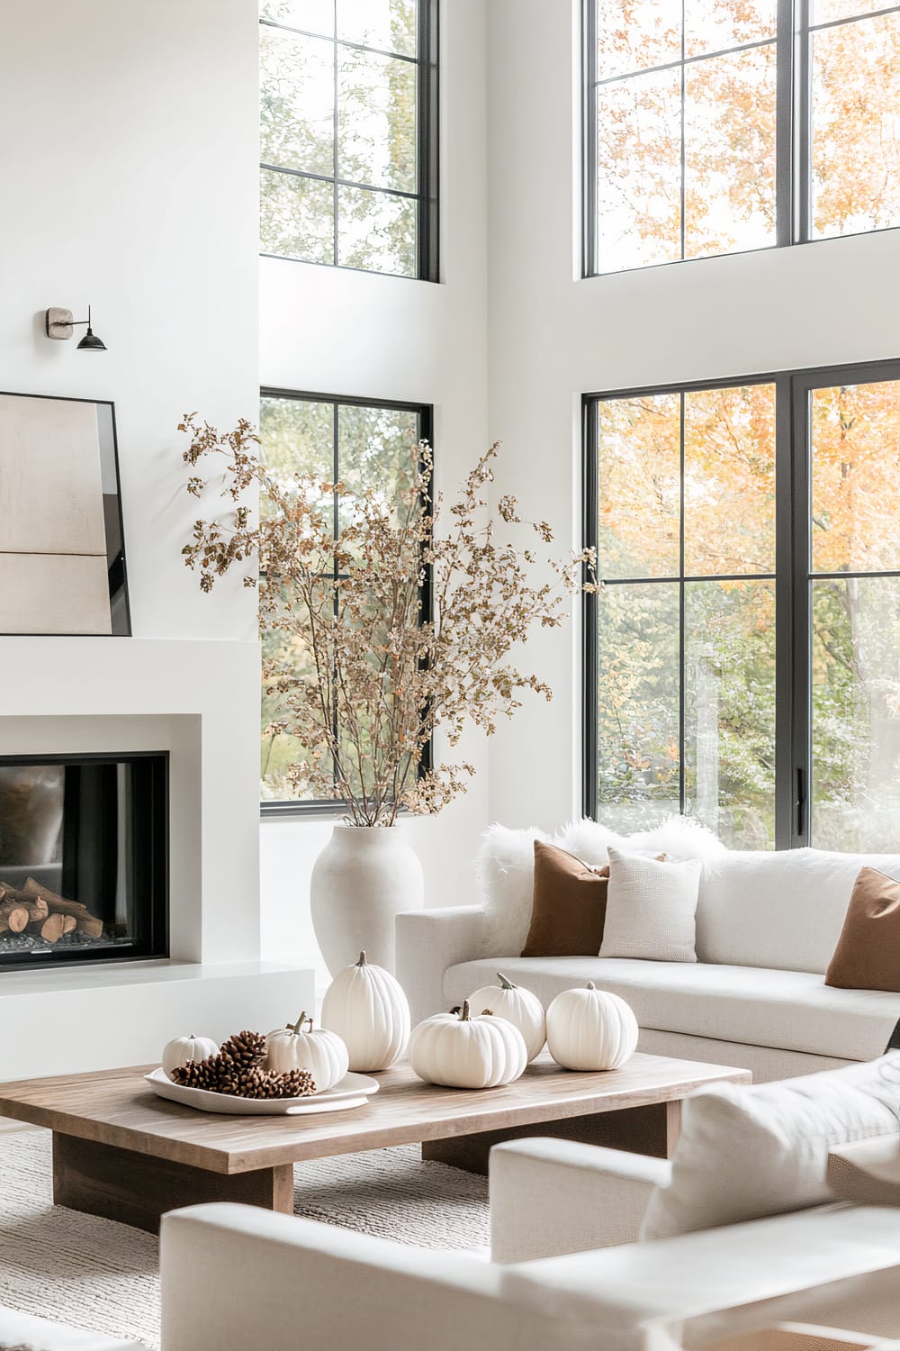
[[[318,481],[344,484],[349,492],[375,489],[390,503],[409,484],[412,450],[426,440],[433,449],[433,409],[429,404],[398,400],[320,394],[291,389],[260,390],[259,435],[262,455],[273,467],[309,473]],[[264,503],[260,504],[264,511]],[[340,504],[333,494],[335,534],[341,528]],[[422,615],[430,613],[430,589],[422,597]],[[309,674],[310,653],[300,640],[262,632],[263,655],[277,655]],[[281,644],[281,647],[279,647]],[[281,650],[290,647],[290,650]],[[277,650],[278,648],[278,650]],[[277,703],[262,692],[260,707],[260,800],[266,817],[341,813],[341,802],[293,793],[285,767],[302,758],[304,748],[290,736],[267,736],[278,712]],[[428,751],[428,747],[426,747]],[[428,755],[424,757],[428,763]]]

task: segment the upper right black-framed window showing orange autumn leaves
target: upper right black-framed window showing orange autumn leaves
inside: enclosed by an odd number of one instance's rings
[[[583,274],[900,226],[900,5],[583,0]]]

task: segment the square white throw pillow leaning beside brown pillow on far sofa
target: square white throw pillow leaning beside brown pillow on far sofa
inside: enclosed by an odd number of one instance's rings
[[[610,846],[610,885],[600,957],[696,962],[694,929],[699,859],[660,863]]]

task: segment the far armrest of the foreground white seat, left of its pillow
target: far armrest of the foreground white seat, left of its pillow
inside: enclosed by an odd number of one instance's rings
[[[671,1171],[665,1159],[571,1140],[498,1144],[490,1156],[491,1260],[633,1243],[650,1192]]]

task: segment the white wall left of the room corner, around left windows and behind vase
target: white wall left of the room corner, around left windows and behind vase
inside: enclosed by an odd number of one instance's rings
[[[433,404],[436,481],[447,490],[487,444],[484,7],[443,5],[441,284],[260,259],[262,382]],[[425,866],[429,905],[474,898],[487,750],[480,738],[460,750],[479,769],[468,793],[440,817],[403,827]],[[309,958],[309,871],[329,830],[263,824],[263,955]]]

